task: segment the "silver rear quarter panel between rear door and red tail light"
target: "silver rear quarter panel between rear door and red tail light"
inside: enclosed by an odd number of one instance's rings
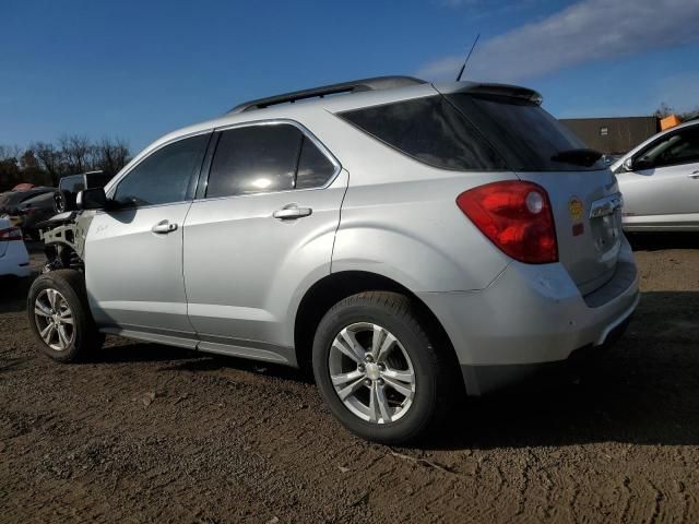
[[[350,171],[333,273],[368,271],[419,293],[483,289],[505,270],[509,259],[455,200],[514,174],[433,168],[333,118],[322,140]]]

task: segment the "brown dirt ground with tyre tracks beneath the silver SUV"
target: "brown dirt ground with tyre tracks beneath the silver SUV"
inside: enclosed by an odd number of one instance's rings
[[[412,449],[352,437],[291,369],[116,338],[54,364],[0,281],[0,521],[698,522],[699,238],[635,246],[642,301],[596,377],[469,401]]]

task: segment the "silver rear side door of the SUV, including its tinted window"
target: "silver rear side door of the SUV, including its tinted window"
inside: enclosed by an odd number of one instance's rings
[[[306,279],[330,272],[347,174],[294,122],[238,126],[215,140],[185,224],[189,319],[202,349],[288,360],[287,310]]]

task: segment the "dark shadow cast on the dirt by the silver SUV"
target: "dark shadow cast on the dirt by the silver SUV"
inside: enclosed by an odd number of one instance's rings
[[[625,336],[574,381],[519,386],[460,403],[419,448],[459,450],[593,442],[699,444],[699,293],[644,293]],[[236,369],[309,382],[299,370],[234,357],[127,344],[105,362],[169,360],[163,370]],[[273,386],[270,384],[270,386]],[[457,392],[454,393],[457,396]]]

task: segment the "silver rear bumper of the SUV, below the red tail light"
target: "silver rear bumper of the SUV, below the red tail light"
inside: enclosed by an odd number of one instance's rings
[[[640,298],[627,242],[614,277],[584,297],[562,265],[518,262],[481,291],[419,297],[447,331],[466,390],[475,395],[565,361],[578,349],[604,345],[623,331]]]

